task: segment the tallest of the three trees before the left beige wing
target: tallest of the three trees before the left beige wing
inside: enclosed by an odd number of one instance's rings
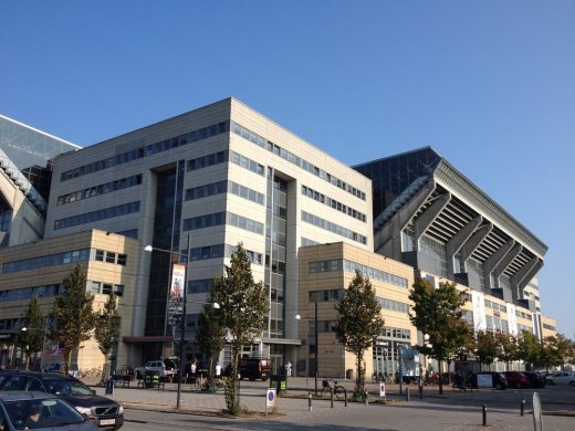
[[[81,344],[90,339],[95,323],[92,312],[94,296],[86,292],[86,276],[80,265],[64,278],[64,291],[54,299],[52,315],[55,325],[52,336],[64,344],[64,368],[69,370],[72,353],[77,351]]]

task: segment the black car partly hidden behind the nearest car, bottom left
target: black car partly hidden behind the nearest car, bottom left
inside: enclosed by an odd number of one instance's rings
[[[53,393],[86,416],[101,428],[117,430],[124,424],[124,408],[116,401],[95,395],[82,381],[56,372],[3,371],[0,391]]]

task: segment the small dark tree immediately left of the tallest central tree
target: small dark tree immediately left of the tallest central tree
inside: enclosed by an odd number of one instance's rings
[[[212,296],[210,293],[206,299],[196,335],[196,347],[208,358],[208,385],[210,386],[213,385],[213,358],[223,348],[227,334],[222,311],[213,307]]]

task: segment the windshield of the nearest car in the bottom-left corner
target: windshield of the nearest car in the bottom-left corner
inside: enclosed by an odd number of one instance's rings
[[[85,421],[73,407],[59,399],[6,401],[4,407],[17,430],[58,428]]]

